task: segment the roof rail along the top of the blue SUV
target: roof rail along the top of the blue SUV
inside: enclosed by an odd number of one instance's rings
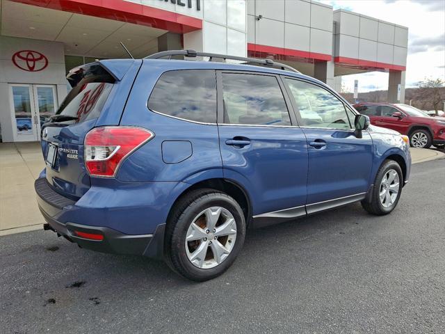
[[[291,72],[300,73],[295,68],[285,65],[282,63],[276,63],[272,59],[257,59],[257,58],[246,58],[246,57],[238,57],[238,56],[227,56],[226,54],[209,54],[208,52],[197,52],[195,50],[171,50],[171,51],[162,51],[156,54],[152,54],[150,56],[145,57],[144,59],[162,59],[166,58],[170,60],[173,56],[186,56],[188,58],[196,58],[200,57],[209,57],[209,61],[213,61],[213,58],[218,59],[230,59],[234,61],[243,61],[243,65],[254,65],[254,66],[264,66],[264,67],[274,67],[280,70],[288,70]]]

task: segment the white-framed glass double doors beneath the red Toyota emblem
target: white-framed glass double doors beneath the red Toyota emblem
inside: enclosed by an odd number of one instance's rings
[[[40,141],[40,125],[57,109],[56,86],[11,84],[14,141]]]

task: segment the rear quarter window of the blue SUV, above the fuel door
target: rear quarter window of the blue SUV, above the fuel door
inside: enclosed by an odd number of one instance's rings
[[[148,108],[185,120],[216,123],[215,71],[165,72],[153,88]]]

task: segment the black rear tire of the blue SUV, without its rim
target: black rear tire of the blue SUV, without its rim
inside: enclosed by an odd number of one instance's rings
[[[201,269],[188,260],[186,255],[186,233],[193,219],[204,209],[219,206],[227,209],[236,222],[236,239],[232,251],[216,267]],[[245,217],[236,200],[226,193],[213,189],[197,189],[186,193],[172,208],[165,228],[164,255],[168,266],[179,275],[202,282],[224,273],[240,252],[245,237]]]

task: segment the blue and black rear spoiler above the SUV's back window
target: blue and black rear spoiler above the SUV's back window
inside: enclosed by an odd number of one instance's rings
[[[68,72],[67,81],[72,87],[88,77],[106,76],[108,77],[106,78],[107,82],[121,81],[133,62],[134,59],[110,59],[77,66]]]

